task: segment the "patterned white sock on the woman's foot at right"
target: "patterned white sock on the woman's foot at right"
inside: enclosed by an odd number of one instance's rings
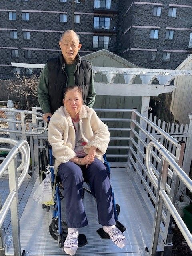
[[[103,230],[110,236],[111,240],[118,247],[123,248],[126,244],[126,238],[123,233],[115,226],[103,226]]]

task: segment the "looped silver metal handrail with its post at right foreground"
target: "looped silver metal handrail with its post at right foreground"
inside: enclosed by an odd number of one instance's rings
[[[160,230],[160,222],[162,218],[162,208],[163,203],[166,205],[167,209],[170,211],[170,214],[174,218],[178,228],[183,234],[186,242],[188,243],[190,249],[192,250],[192,234],[188,230],[184,221],[180,217],[178,211],[174,207],[174,204],[170,200],[169,196],[166,194],[166,180],[168,175],[168,166],[170,165],[176,175],[182,180],[182,182],[186,185],[186,187],[192,192],[192,180],[186,175],[186,173],[180,168],[180,166],[174,161],[172,156],[170,156],[168,150],[160,144],[158,141],[149,142],[146,148],[146,166],[148,170],[148,174],[152,180],[157,180],[156,176],[153,173],[152,165],[150,162],[150,156],[152,152],[152,148],[155,147],[160,154],[162,155],[162,168],[160,170],[160,175],[158,179],[158,189],[156,196],[156,206],[155,206],[155,214],[154,214],[154,223],[153,223],[153,232],[152,232],[152,247],[150,250],[150,255],[155,256],[158,244],[158,236]]]

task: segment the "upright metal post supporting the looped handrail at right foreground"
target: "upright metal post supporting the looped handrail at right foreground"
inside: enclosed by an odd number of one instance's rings
[[[160,196],[160,190],[166,189],[168,166],[169,166],[168,162],[166,162],[162,157],[159,180],[158,180],[158,188],[156,193],[155,214],[154,214],[154,222],[153,222],[153,230],[152,230],[152,243],[151,243],[151,249],[150,249],[151,256],[156,256],[156,251],[157,251],[160,224],[161,224],[161,218],[162,218],[162,210],[163,210],[163,199]]]

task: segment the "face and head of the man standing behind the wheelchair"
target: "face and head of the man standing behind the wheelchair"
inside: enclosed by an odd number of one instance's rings
[[[81,48],[81,44],[73,32],[65,33],[59,41],[61,52],[67,64],[73,64],[75,62],[78,50]]]

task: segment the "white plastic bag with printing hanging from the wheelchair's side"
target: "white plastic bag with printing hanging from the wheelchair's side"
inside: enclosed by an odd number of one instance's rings
[[[33,194],[33,199],[40,204],[53,205],[53,188],[51,186],[51,174],[46,174],[46,177],[38,186]]]

